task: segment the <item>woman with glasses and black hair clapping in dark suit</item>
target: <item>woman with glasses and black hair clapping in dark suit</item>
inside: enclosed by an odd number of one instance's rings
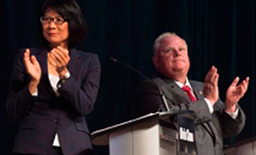
[[[100,81],[97,55],[74,49],[85,24],[74,0],[47,0],[40,17],[43,48],[21,50],[12,70],[6,109],[19,123],[18,154],[90,154],[85,116]]]

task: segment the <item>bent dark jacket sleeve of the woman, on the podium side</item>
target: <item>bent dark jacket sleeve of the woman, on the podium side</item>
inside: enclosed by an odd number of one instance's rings
[[[72,75],[59,88],[62,98],[69,102],[80,116],[88,115],[93,109],[100,87],[101,65],[97,55],[87,58],[86,66],[81,65],[80,81]]]

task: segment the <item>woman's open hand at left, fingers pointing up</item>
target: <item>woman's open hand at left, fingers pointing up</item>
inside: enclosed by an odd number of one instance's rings
[[[28,85],[28,89],[31,94],[37,91],[37,85],[41,78],[41,67],[35,56],[30,57],[30,50],[27,48],[24,53],[24,65],[26,67],[27,73],[30,75],[31,80]]]

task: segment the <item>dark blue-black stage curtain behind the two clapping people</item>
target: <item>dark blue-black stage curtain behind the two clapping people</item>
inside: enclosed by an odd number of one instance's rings
[[[77,0],[89,26],[87,38],[77,48],[99,55],[101,88],[95,109],[87,117],[91,131],[129,119],[133,98],[144,80],[130,69],[113,65],[109,57],[130,64],[152,77],[152,45],[160,34],[170,31],[187,40],[191,69],[189,78],[204,80],[209,67],[219,69],[220,97],[236,76],[251,78],[240,106],[247,115],[234,143],[255,136],[255,0]],[[0,154],[8,155],[16,125],[5,115],[9,73],[20,47],[40,42],[38,12],[42,0],[0,1]],[[107,155],[107,147],[95,147]]]

